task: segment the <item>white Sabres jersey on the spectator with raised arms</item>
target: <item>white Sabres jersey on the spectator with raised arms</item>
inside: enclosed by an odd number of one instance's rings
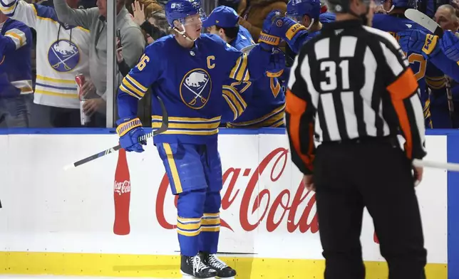
[[[36,104],[79,108],[75,76],[89,77],[89,31],[60,23],[56,11],[23,0],[1,0],[0,11],[37,33]]]

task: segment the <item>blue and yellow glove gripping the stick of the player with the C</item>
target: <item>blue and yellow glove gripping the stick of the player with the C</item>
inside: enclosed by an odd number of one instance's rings
[[[145,135],[143,131],[142,122],[138,118],[124,118],[116,122],[118,128],[116,132],[120,136],[120,145],[126,151],[143,152],[142,145],[146,145],[146,139],[140,140],[139,137]]]

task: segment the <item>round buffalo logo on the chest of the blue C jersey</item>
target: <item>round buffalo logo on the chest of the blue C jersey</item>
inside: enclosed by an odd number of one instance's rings
[[[204,69],[190,70],[180,84],[180,98],[188,107],[200,110],[205,106],[212,91],[212,80]]]

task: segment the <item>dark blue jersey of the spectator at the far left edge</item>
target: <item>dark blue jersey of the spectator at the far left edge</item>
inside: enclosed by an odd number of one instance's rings
[[[31,53],[30,28],[6,19],[0,32],[0,98],[33,93]]]

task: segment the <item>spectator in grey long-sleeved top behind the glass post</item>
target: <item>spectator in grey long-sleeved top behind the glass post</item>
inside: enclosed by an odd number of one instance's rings
[[[90,73],[94,85],[96,85],[97,94],[100,98],[86,101],[85,111],[88,113],[105,111],[105,100],[107,94],[107,0],[98,0],[97,8],[77,10],[72,9],[66,3],[66,0],[54,0],[54,6],[58,18],[70,24],[88,28],[91,31],[90,46]],[[116,26],[120,28],[121,43],[123,45],[123,57],[130,68],[137,63],[138,58],[145,48],[145,40],[142,31],[134,23],[133,19],[125,8],[125,0],[116,2]],[[118,77],[118,84],[121,77]],[[115,86],[115,88],[118,88]],[[90,102],[92,101],[92,102]]]

